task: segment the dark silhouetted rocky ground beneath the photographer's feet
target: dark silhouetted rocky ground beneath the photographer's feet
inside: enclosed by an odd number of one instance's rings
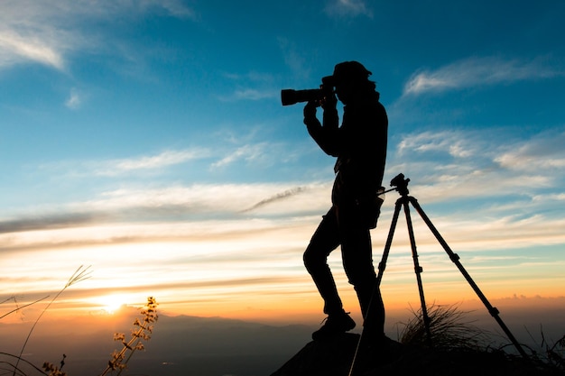
[[[310,342],[271,376],[347,376],[359,335],[345,334],[329,342]],[[502,351],[434,350],[390,340],[383,347],[362,348],[356,376],[557,376],[565,372]]]

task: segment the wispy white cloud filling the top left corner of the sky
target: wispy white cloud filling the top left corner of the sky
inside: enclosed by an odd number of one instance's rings
[[[65,70],[69,54],[102,45],[81,30],[85,22],[139,16],[155,9],[173,17],[196,17],[189,7],[176,0],[4,0],[0,13],[0,69],[38,63]]]

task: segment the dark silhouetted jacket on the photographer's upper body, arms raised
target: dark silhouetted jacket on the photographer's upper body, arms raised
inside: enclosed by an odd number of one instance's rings
[[[378,216],[373,212],[380,212],[382,201],[373,206],[383,182],[388,133],[388,117],[378,92],[344,106],[341,126],[338,121],[335,108],[324,110],[323,125],[315,117],[305,121],[320,148],[338,158],[332,203],[347,216]],[[372,212],[360,214],[358,210]]]

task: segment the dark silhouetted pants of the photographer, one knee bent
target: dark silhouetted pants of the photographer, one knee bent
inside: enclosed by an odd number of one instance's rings
[[[347,280],[357,292],[361,313],[365,319],[364,325],[382,334],[384,304],[375,283],[371,234],[366,227],[341,222],[337,206],[332,206],[312,235],[304,252],[304,265],[324,299],[324,313],[332,315],[342,312],[341,298],[328,266],[329,253],[341,245],[343,267]]]

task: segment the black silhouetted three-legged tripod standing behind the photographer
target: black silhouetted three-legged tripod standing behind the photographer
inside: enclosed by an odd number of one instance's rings
[[[485,294],[483,294],[483,292],[478,288],[477,283],[475,283],[475,281],[471,278],[471,276],[465,270],[465,268],[463,267],[463,265],[459,261],[458,254],[451,251],[448,243],[445,242],[445,240],[441,236],[440,232],[431,223],[430,218],[428,216],[426,216],[424,211],[421,209],[421,206],[420,206],[420,204],[418,204],[418,201],[416,200],[416,198],[408,196],[408,193],[409,193],[408,192],[408,182],[409,181],[410,181],[410,179],[404,179],[403,174],[399,174],[391,181],[391,186],[395,186],[395,188],[384,191],[384,192],[390,192],[392,190],[397,190],[400,193],[401,197],[396,200],[396,204],[394,206],[393,221],[391,223],[391,227],[390,227],[390,230],[389,230],[389,233],[388,233],[388,237],[387,237],[386,243],[384,245],[383,258],[381,259],[381,261],[379,262],[379,265],[378,265],[378,274],[376,276],[375,288],[374,288],[373,294],[375,294],[375,292],[379,289],[380,284],[381,284],[381,280],[383,280],[384,270],[386,269],[386,261],[388,259],[388,254],[389,254],[390,249],[391,249],[391,244],[393,243],[394,230],[396,229],[396,224],[398,222],[398,216],[400,215],[401,207],[403,207],[404,208],[404,214],[406,216],[406,225],[408,226],[408,235],[409,235],[409,238],[410,238],[410,245],[412,247],[412,260],[413,260],[413,263],[414,263],[414,271],[416,273],[416,280],[418,282],[418,291],[420,293],[422,320],[423,320],[424,329],[425,329],[425,333],[426,333],[426,339],[428,341],[428,344],[432,345],[432,343],[431,343],[430,316],[428,316],[428,309],[426,307],[426,300],[425,300],[425,297],[424,297],[423,285],[422,285],[422,282],[421,282],[421,272],[423,270],[420,266],[420,262],[418,261],[418,252],[416,251],[416,240],[414,238],[414,231],[413,231],[413,228],[412,228],[412,218],[411,218],[411,215],[410,215],[410,205],[409,204],[412,204],[412,206],[416,209],[418,214],[421,216],[421,219],[423,219],[423,221],[426,223],[426,225],[428,225],[428,227],[430,228],[431,233],[435,235],[436,239],[438,240],[438,242],[440,242],[440,244],[443,247],[443,249],[445,250],[445,252],[448,253],[449,259],[453,263],[455,263],[455,265],[458,267],[458,270],[461,271],[461,274],[463,274],[463,277],[465,277],[465,279],[468,281],[468,284],[471,286],[471,288],[473,290],[475,290],[475,292],[477,293],[477,297],[480,298],[480,300],[483,302],[486,309],[488,310],[488,313],[495,318],[498,325],[505,332],[505,335],[512,342],[512,344],[514,344],[514,347],[516,348],[516,350],[518,350],[518,353],[520,353],[523,356],[524,359],[529,359],[528,355],[523,351],[522,346],[518,343],[518,341],[516,341],[514,335],[510,332],[510,329],[508,329],[508,327],[505,325],[504,321],[500,318],[500,316],[498,316],[499,313],[500,313],[498,311],[498,309],[496,309],[496,307],[493,307],[490,304],[488,299],[485,297]],[[369,305],[369,307],[370,307],[370,305]],[[366,317],[368,317],[368,313],[366,313]],[[366,317],[364,317],[364,318],[366,319]],[[357,344],[357,350],[356,350],[356,353],[354,355],[353,362],[351,364],[351,370],[349,371],[349,376],[351,376],[352,373],[353,373],[356,358],[357,358],[357,353],[358,353],[359,348],[361,346],[362,339],[363,339],[363,333],[361,333],[361,336],[359,337],[359,342]]]

